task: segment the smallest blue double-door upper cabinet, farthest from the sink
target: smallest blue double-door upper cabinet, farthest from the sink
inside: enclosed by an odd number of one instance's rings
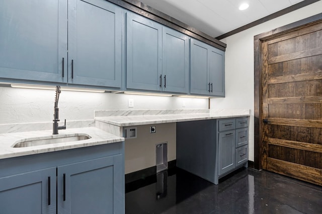
[[[190,93],[224,96],[224,52],[191,39]]]

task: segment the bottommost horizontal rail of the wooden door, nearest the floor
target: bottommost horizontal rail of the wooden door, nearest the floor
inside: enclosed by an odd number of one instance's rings
[[[267,169],[290,177],[322,185],[322,169],[303,166],[274,158],[268,158]]]

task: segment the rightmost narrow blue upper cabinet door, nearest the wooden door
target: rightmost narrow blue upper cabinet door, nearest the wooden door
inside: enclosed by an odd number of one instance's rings
[[[210,94],[225,96],[224,52],[211,47],[209,50]]]

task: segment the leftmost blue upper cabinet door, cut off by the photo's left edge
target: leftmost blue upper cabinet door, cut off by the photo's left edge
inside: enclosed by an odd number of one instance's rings
[[[0,1],[0,35],[0,77],[67,81],[66,1]]]

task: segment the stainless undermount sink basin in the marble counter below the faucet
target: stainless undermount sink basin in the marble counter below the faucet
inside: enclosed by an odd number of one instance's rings
[[[40,146],[47,144],[66,143],[72,141],[83,141],[92,138],[87,134],[51,135],[40,138],[28,138],[16,141],[14,148]]]

